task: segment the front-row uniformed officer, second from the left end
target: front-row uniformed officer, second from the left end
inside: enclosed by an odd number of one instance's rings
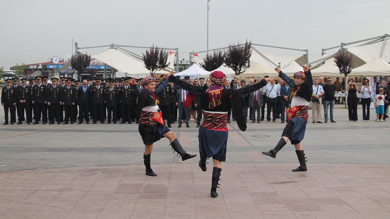
[[[22,85],[17,87],[17,101],[20,104],[17,109],[18,112],[18,125],[22,124],[22,121],[25,121],[24,113],[26,111],[27,124],[30,124],[31,113],[30,113],[30,105],[31,105],[31,87],[27,85],[27,78],[20,79]],[[18,104],[16,104],[18,106]]]

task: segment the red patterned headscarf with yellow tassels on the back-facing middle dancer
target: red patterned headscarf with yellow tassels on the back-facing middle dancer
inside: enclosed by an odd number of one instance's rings
[[[210,87],[206,90],[209,94],[209,109],[222,104],[222,90],[226,81],[226,75],[222,71],[214,71],[210,74]]]

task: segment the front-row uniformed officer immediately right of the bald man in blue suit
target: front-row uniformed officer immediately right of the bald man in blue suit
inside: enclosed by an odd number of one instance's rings
[[[106,112],[104,112],[104,97],[106,91],[103,86],[100,85],[100,79],[96,79],[96,84],[91,89],[91,99],[92,99],[92,108],[94,111],[94,120],[92,124],[96,124],[97,120],[100,120],[101,124],[105,124],[104,117]]]

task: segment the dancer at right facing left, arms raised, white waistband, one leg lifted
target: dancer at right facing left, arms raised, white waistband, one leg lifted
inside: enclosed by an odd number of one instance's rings
[[[294,74],[294,81],[285,75],[280,68],[275,68],[279,73],[280,78],[289,86],[293,87],[290,94],[291,106],[286,110],[288,122],[283,130],[282,138],[279,140],[275,148],[270,151],[262,152],[262,154],[275,158],[280,149],[290,140],[295,147],[295,152],[298,157],[300,166],[293,171],[307,171],[305,154],[301,141],[305,136],[306,124],[308,119],[307,109],[313,93],[313,79],[310,69],[303,65],[303,71],[298,71]]]

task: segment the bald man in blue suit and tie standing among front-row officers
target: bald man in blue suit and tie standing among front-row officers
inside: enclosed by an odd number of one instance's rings
[[[91,86],[89,82],[84,79],[83,86],[78,89],[78,123],[82,124],[83,119],[89,124],[89,103],[90,103]]]

